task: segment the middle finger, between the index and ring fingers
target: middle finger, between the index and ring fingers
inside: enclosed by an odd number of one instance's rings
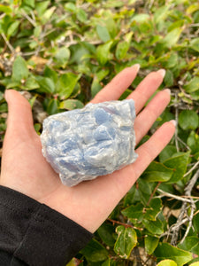
[[[145,103],[157,90],[159,85],[163,82],[165,76],[165,69],[160,69],[157,72],[151,72],[146,78],[137,86],[127,98],[134,99],[134,106],[136,113],[139,113]]]

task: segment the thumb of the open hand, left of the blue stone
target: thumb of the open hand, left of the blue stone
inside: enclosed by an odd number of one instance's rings
[[[4,98],[8,103],[7,131],[11,129],[23,135],[32,132],[34,121],[27,99],[16,90],[5,90]]]

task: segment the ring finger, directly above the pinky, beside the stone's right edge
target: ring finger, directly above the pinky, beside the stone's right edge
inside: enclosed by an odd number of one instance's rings
[[[170,102],[170,94],[171,90],[169,89],[158,92],[157,95],[149,102],[149,105],[138,114],[134,121],[136,144],[138,144],[142,137],[147,134],[153,123],[157,120],[157,117],[163,113],[165,107]]]

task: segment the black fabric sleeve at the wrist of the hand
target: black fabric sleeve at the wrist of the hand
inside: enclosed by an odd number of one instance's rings
[[[50,207],[0,185],[0,265],[65,266],[92,237]]]

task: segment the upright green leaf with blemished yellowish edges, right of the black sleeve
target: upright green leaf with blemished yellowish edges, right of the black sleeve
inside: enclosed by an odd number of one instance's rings
[[[134,246],[137,244],[137,235],[133,228],[125,228],[119,225],[116,228],[118,239],[115,242],[114,251],[123,259],[127,259]]]

